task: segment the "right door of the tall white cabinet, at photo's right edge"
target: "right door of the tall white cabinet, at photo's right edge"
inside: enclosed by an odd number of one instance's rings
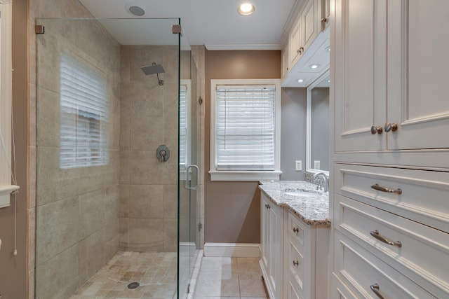
[[[388,2],[389,149],[449,148],[448,0]]]

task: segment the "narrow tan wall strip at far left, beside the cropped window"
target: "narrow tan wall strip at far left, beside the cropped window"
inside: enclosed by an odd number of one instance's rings
[[[11,206],[0,209],[0,295],[2,299],[26,297],[27,283],[27,1],[13,4],[13,118],[17,196],[17,256],[14,252],[14,196]]]

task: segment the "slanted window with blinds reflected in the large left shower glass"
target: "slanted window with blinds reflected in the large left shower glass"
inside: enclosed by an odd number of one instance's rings
[[[107,165],[106,80],[69,55],[60,71],[60,168]]]

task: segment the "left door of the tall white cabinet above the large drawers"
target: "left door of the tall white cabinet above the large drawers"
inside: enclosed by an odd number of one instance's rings
[[[385,0],[335,0],[331,69],[335,99],[335,151],[385,148]],[[383,49],[383,50],[382,50]]]

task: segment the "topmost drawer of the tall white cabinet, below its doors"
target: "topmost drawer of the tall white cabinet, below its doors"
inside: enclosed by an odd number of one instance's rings
[[[449,172],[340,163],[334,169],[335,193],[449,232]]]

